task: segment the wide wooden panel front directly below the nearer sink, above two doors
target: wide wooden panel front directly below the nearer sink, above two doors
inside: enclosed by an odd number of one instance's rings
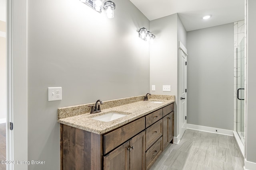
[[[142,117],[132,123],[124,125],[110,133],[103,135],[104,139],[104,154],[118,147],[128,139],[134,137],[139,132],[145,129],[145,117]]]

